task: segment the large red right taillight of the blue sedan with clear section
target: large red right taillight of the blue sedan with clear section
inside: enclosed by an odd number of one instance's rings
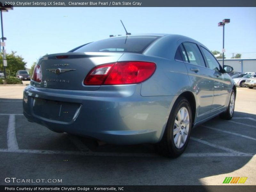
[[[96,66],[85,77],[85,85],[137,84],[147,80],[156,64],[144,61],[122,61]]]

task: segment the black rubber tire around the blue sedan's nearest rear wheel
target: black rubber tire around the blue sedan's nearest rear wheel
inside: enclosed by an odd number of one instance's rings
[[[187,138],[185,140],[184,145],[181,148],[177,148],[174,144],[174,136],[173,136],[174,122],[179,110],[183,107],[185,107],[188,111],[189,129],[188,129],[188,134],[187,134]],[[171,157],[171,158],[176,158],[180,156],[185,151],[188,145],[191,129],[192,129],[192,112],[191,112],[190,104],[186,98],[180,97],[177,99],[177,101],[174,103],[172,107],[162,140],[156,144],[157,151],[161,155]],[[180,133],[177,133],[177,134],[180,134]]]

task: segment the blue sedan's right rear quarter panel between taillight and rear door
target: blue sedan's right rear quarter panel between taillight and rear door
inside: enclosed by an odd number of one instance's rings
[[[185,63],[174,60],[178,45],[177,39],[164,36],[156,40],[144,54],[125,53],[118,60],[156,63],[155,73],[142,82],[141,96],[173,96],[192,91]]]

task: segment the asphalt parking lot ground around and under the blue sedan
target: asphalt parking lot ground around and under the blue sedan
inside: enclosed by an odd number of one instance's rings
[[[226,177],[256,184],[256,89],[237,87],[234,118],[196,127],[176,159],[150,144],[110,145],[30,123],[22,115],[23,89],[0,87],[1,185],[222,185]],[[6,183],[9,177],[40,182]]]

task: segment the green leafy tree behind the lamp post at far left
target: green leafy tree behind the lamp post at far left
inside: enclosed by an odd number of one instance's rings
[[[10,54],[6,53],[7,67],[6,67],[6,75],[7,76],[15,76],[18,70],[26,69],[26,62],[24,59],[16,55],[16,52],[12,52]],[[4,70],[3,66],[3,55],[0,55],[0,69]]]

